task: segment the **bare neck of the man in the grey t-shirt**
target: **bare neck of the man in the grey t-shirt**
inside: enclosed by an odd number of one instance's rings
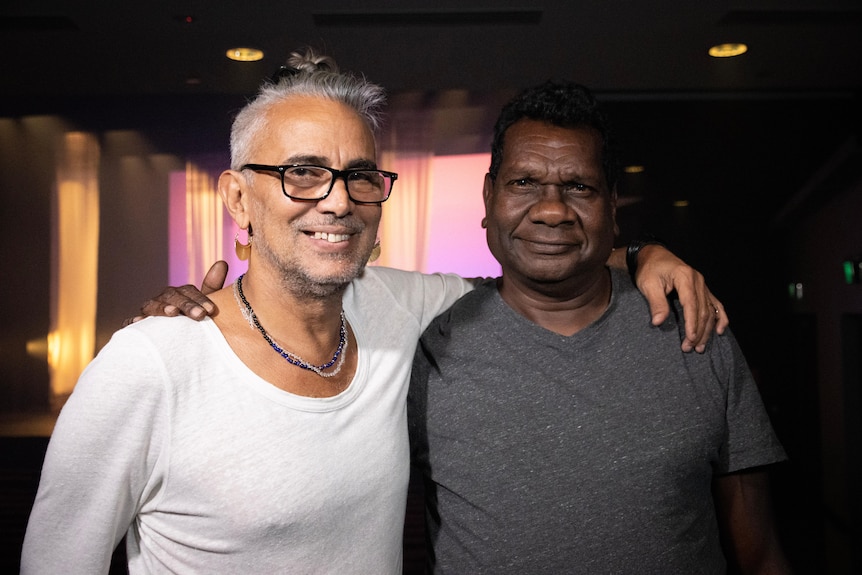
[[[538,283],[503,274],[497,280],[500,297],[536,325],[560,335],[573,335],[605,312],[610,303],[607,269],[579,281]]]

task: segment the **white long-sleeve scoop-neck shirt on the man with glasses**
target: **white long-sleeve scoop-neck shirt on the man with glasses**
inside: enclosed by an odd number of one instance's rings
[[[22,573],[401,572],[416,342],[471,285],[368,268],[344,296],[356,374],[309,398],[262,380],[211,320],[117,332],[57,422]]]

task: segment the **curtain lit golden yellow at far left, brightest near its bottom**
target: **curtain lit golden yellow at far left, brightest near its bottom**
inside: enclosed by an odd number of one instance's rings
[[[52,242],[51,391],[62,403],[93,359],[99,263],[99,144],[65,134],[57,163]]]

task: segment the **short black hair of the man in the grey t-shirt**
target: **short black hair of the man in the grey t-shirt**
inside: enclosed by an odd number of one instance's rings
[[[592,92],[574,82],[548,81],[527,88],[503,106],[494,125],[491,142],[491,167],[488,173],[497,178],[503,162],[503,143],[512,124],[524,118],[548,122],[561,128],[589,127],[602,139],[602,169],[613,190],[620,173],[619,154],[610,124]]]

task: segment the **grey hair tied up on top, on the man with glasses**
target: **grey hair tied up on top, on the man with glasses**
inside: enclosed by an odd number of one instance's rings
[[[272,106],[294,96],[312,96],[341,102],[356,111],[372,132],[382,123],[386,91],[365,77],[340,72],[330,56],[307,48],[293,52],[273,78],[265,82],[257,96],[237,114],[230,135],[231,168],[238,170],[252,161],[253,143],[266,128],[266,114]]]

